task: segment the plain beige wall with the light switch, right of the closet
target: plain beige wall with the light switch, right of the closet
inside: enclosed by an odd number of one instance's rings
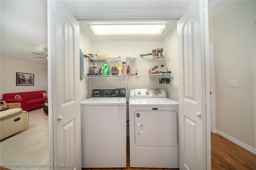
[[[216,128],[256,148],[253,10],[252,1],[220,1],[212,8],[210,41],[214,43],[215,57]],[[236,80],[237,87],[229,87],[230,80]]]

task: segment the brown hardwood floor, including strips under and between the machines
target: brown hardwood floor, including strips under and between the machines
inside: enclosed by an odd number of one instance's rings
[[[163,168],[131,168],[129,138],[126,140],[126,168],[83,168],[83,170],[178,170]],[[256,155],[230,142],[222,136],[211,134],[212,170],[256,170]]]

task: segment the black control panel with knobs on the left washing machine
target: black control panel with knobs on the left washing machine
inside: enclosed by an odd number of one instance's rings
[[[93,89],[92,97],[125,97],[125,89]]]

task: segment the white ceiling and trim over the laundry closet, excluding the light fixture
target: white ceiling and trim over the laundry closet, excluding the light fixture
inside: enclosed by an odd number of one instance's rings
[[[64,0],[80,21],[80,28],[92,41],[161,41],[176,26],[176,21],[190,4],[186,0]],[[99,5],[100,4],[100,5]],[[161,35],[94,35],[90,23],[152,23],[164,21]]]

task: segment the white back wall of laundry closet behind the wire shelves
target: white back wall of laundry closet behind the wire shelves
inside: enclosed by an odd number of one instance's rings
[[[131,41],[131,42],[92,42],[92,53],[98,53],[98,55],[109,55],[110,57],[126,57],[126,55],[140,56],[140,54],[150,53],[154,48],[161,48],[162,41]],[[139,69],[140,74],[148,74],[148,70],[158,64],[166,65],[166,61],[129,61],[131,73],[135,73],[136,69]],[[97,63],[98,66],[103,62]],[[109,64],[118,64],[112,62]],[[93,62],[95,65],[95,62]],[[159,77],[130,77],[126,78],[112,78],[112,79],[90,79],[90,89],[97,88],[115,88],[125,87],[127,90],[126,97],[129,98],[130,89],[145,89],[145,88],[164,88],[159,84]],[[91,94],[90,94],[91,95]]]

